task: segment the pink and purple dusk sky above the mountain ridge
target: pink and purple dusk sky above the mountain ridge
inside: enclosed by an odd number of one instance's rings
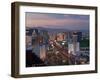
[[[26,12],[26,27],[89,30],[89,15]]]

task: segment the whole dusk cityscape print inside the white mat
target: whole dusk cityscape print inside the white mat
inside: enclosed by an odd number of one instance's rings
[[[89,64],[89,15],[26,12],[26,67]]]

